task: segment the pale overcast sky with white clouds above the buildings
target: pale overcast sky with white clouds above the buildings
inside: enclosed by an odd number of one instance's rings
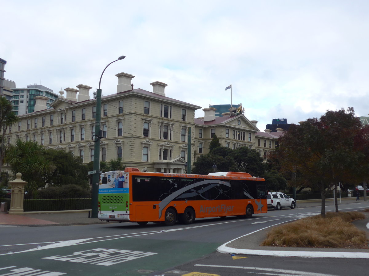
[[[116,93],[168,84],[201,106],[242,103],[259,130],[352,106],[368,116],[368,1],[0,0],[0,57],[17,87]],[[64,94],[65,96],[65,94]],[[202,109],[195,117],[203,116]]]

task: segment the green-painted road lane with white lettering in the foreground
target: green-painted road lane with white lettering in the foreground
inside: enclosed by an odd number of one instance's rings
[[[0,276],[149,275],[201,258],[220,243],[119,238],[2,255]]]

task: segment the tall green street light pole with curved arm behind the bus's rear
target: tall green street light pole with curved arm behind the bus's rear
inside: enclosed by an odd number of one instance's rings
[[[98,211],[98,201],[99,201],[99,176],[100,176],[100,139],[102,138],[100,135],[100,123],[101,123],[101,78],[106,70],[106,68],[115,61],[124,59],[125,56],[118,57],[117,60],[109,63],[104,71],[101,73],[99,88],[96,90],[96,120],[95,120],[95,135],[92,137],[94,141],[94,157],[93,157],[93,170],[95,173],[92,175],[92,202],[91,202],[91,217],[97,218]]]

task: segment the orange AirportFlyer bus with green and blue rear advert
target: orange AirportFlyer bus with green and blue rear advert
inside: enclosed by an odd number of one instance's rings
[[[264,178],[248,173],[149,173],[127,167],[102,173],[98,218],[106,221],[191,224],[195,217],[266,213]]]

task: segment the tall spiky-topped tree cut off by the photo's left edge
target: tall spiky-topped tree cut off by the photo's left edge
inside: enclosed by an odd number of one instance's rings
[[[8,148],[6,132],[11,125],[17,123],[18,116],[13,112],[13,106],[4,97],[0,97],[0,171],[3,167],[5,153]]]

